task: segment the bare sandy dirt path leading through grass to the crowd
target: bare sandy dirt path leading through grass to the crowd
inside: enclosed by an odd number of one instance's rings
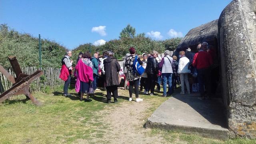
[[[134,98],[135,99],[135,98]],[[166,143],[160,136],[149,135],[150,129],[143,127],[148,117],[150,103],[143,102],[122,102],[116,106],[106,106],[97,115],[102,115],[100,121],[107,125],[103,138],[92,140],[76,140],[76,143],[97,143],[97,144],[163,144]]]

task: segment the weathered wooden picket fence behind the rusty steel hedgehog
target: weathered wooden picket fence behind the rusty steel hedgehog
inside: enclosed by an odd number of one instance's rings
[[[22,72],[25,74],[33,74],[36,70],[38,70],[36,67],[27,67],[22,68]],[[40,78],[34,80],[30,84],[30,92],[35,91],[44,91],[46,89],[52,89],[56,88],[58,86],[63,86],[64,81],[59,78],[60,76],[60,68],[42,68],[42,71],[44,72],[44,75],[42,75]],[[9,69],[8,72],[16,77],[13,70]],[[0,72],[0,79],[2,82],[2,86],[4,90],[8,90],[12,87],[12,83],[8,81],[8,79]]]

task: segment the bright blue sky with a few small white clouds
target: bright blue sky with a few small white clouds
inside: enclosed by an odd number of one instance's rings
[[[164,40],[216,20],[232,0],[0,0],[0,24],[54,40],[68,49],[136,34]]]

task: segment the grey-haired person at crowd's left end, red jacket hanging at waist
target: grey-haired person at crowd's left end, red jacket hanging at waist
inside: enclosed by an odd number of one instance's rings
[[[65,56],[61,60],[62,68],[60,70],[60,76],[68,75],[68,79],[65,80],[65,84],[63,88],[64,96],[71,96],[70,94],[68,94],[68,86],[70,84],[70,76],[71,76],[72,63],[73,63],[73,60],[71,60],[70,58],[71,56],[72,56],[72,52],[67,51]]]

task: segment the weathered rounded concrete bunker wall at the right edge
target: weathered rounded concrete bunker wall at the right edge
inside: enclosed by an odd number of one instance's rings
[[[255,0],[234,0],[218,21],[222,91],[231,137],[256,138],[255,13]]]

